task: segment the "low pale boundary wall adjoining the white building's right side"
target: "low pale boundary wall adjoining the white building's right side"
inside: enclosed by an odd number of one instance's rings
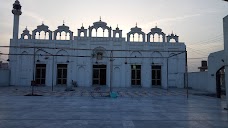
[[[188,86],[195,90],[207,91],[208,72],[188,73]]]

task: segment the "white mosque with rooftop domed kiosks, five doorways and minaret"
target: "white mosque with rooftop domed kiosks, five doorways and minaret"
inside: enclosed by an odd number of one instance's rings
[[[186,45],[176,34],[166,35],[157,26],[146,34],[136,24],[125,38],[118,26],[112,29],[100,18],[77,34],[65,23],[54,31],[42,23],[19,37],[21,7],[16,0],[10,85],[185,87]]]

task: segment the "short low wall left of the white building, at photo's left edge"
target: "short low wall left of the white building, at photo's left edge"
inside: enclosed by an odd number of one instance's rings
[[[9,86],[10,70],[0,69],[0,86]]]

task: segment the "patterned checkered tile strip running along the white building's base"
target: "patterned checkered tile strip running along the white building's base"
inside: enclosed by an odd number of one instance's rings
[[[0,87],[0,95],[21,96],[32,93],[31,87]],[[34,94],[43,96],[82,96],[82,97],[99,97],[109,95],[109,88],[94,88],[77,87],[74,91],[65,91],[65,87],[34,87]],[[184,89],[160,89],[160,88],[113,88],[113,92],[117,93],[118,97],[154,97],[154,96],[187,96]]]

